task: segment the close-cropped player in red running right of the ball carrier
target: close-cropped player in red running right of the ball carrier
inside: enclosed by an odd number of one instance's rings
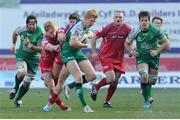
[[[115,11],[114,22],[96,32],[92,39],[92,57],[96,58],[98,56],[96,53],[96,40],[103,38],[99,49],[99,60],[106,77],[97,84],[92,85],[91,98],[96,101],[98,90],[109,84],[108,93],[103,104],[104,108],[112,107],[109,101],[117,88],[121,74],[125,73],[124,43],[130,31],[131,27],[124,23],[123,12]]]

